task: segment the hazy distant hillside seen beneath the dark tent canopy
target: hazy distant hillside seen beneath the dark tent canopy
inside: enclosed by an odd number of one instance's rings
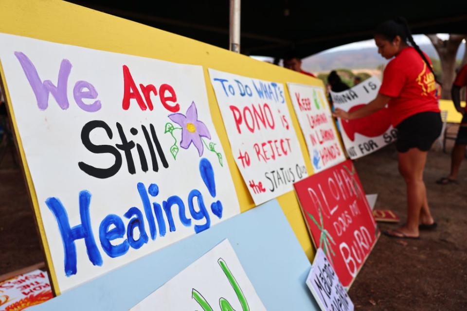
[[[431,44],[421,45],[420,48],[431,58],[439,59],[438,53]],[[457,52],[457,58],[462,58],[464,51],[465,44],[462,44]],[[315,54],[303,59],[302,68],[311,72],[329,71],[337,68],[375,69],[386,63],[387,60],[378,54],[375,47]]]

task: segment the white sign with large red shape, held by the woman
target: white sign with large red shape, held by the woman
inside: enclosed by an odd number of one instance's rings
[[[331,92],[332,102],[335,108],[352,112],[374,100],[380,86],[378,78],[371,77],[348,90]],[[367,117],[338,120],[342,141],[351,159],[371,154],[397,139],[387,106]]]

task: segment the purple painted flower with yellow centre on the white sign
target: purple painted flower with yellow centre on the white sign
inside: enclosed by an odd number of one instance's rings
[[[201,137],[211,139],[211,134],[206,125],[198,121],[198,111],[196,110],[195,102],[191,103],[190,107],[186,110],[186,115],[181,113],[173,113],[169,115],[169,119],[181,126],[181,142],[180,147],[188,149],[193,142],[198,154],[203,154],[203,142]]]

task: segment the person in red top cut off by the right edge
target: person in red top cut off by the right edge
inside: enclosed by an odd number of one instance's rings
[[[467,106],[465,108],[461,107],[461,88],[467,86],[467,64],[459,70],[459,73],[456,76],[456,80],[451,88],[451,97],[456,110],[463,115],[461,124],[459,125],[459,132],[457,132],[456,142],[451,153],[451,172],[448,177],[443,177],[436,181],[437,184],[447,185],[447,184],[458,184],[457,174],[461,167],[461,162],[464,156],[466,155],[467,147]],[[466,91],[467,93],[467,91]]]

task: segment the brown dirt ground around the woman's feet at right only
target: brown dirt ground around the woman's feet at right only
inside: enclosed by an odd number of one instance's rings
[[[449,150],[450,151],[450,150]],[[467,310],[467,159],[459,185],[441,186],[450,155],[431,151],[425,170],[428,202],[438,228],[420,240],[381,236],[349,291],[357,310]],[[395,146],[356,161],[366,193],[378,193],[377,209],[406,219],[405,186]],[[397,225],[381,224],[380,229]]]

